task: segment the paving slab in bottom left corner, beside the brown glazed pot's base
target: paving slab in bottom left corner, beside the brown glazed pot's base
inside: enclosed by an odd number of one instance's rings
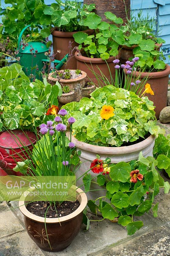
[[[44,256],[26,231],[0,239],[0,256]]]

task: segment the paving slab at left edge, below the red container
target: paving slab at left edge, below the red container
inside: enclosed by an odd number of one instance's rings
[[[0,238],[24,230],[6,202],[0,204]],[[1,255],[0,255],[1,256]]]

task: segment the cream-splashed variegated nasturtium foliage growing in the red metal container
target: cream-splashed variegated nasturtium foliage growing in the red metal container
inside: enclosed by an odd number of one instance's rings
[[[19,64],[0,68],[0,130],[39,126],[48,105],[58,105],[58,85],[30,82]]]

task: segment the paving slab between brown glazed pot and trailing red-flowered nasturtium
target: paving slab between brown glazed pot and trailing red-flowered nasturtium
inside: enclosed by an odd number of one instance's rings
[[[89,219],[91,218],[94,218],[94,220],[97,218],[99,220],[101,219],[101,217],[89,215]],[[139,218],[144,221],[144,227],[136,232],[136,235],[146,233],[154,227],[162,225],[160,220],[156,220],[148,214],[144,214],[142,217],[136,217],[134,220],[139,220]],[[129,236],[127,236],[126,229],[118,223],[112,223],[109,220],[103,220],[101,222],[92,221],[88,231],[83,231],[82,226],[80,233],[67,249],[57,253],[44,252],[44,254],[46,256],[87,256],[106,246],[122,241],[127,237]]]

